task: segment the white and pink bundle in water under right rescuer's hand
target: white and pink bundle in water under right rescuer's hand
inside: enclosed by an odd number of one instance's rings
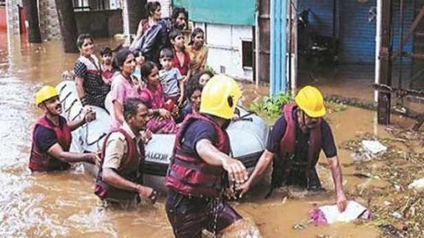
[[[355,219],[369,219],[371,211],[358,202],[349,201],[346,210],[339,212],[337,205],[320,206],[309,211],[312,224],[332,224],[335,222],[349,222]]]

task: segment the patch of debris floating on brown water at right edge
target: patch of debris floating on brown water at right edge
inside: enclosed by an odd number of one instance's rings
[[[372,156],[372,160],[352,160],[354,173],[379,177],[385,186],[357,186],[348,197],[367,201],[372,210],[368,223],[381,228],[382,237],[424,237],[424,190],[411,188],[424,178],[424,133],[389,127],[388,138],[365,134],[344,143],[344,148],[356,158],[371,153],[363,148],[363,140],[381,142],[387,149]],[[424,180],[424,179],[423,179]],[[415,182],[415,183],[414,183]]]

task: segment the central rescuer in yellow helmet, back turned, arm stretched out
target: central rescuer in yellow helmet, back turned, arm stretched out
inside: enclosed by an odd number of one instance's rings
[[[201,237],[204,229],[232,237],[230,229],[246,224],[223,196],[229,180],[242,183],[248,176],[229,156],[225,131],[241,95],[235,80],[214,76],[202,91],[200,113],[189,115],[178,131],[165,177],[165,208],[176,237]]]

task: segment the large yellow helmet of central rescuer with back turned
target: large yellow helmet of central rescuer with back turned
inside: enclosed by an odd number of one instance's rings
[[[242,91],[233,78],[224,74],[215,75],[202,90],[200,113],[231,119],[241,96]]]

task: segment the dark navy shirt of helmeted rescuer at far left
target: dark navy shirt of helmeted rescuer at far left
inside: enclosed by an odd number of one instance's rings
[[[49,120],[49,118],[45,118],[47,122],[54,126],[53,122]],[[63,125],[65,125],[66,119],[62,116],[59,116],[59,128],[63,129]],[[56,133],[52,129],[45,128],[39,125],[35,129],[35,145],[41,152],[47,152],[50,147],[54,144],[58,143]]]

